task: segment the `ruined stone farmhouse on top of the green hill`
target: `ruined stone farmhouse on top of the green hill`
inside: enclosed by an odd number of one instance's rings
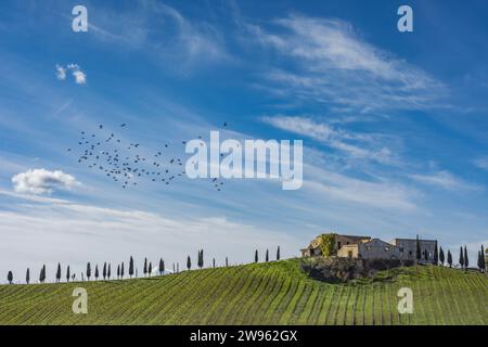
[[[436,240],[420,240],[423,262],[434,262]],[[385,242],[370,236],[341,235],[324,233],[314,237],[307,248],[303,248],[303,257],[337,256],[352,259],[416,259],[416,239],[394,239]]]

